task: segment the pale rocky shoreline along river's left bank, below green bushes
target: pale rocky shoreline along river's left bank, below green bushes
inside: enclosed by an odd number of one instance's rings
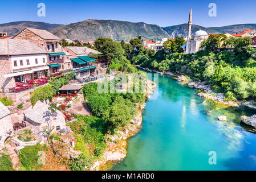
[[[150,80],[147,80],[146,89],[147,94],[146,98],[149,99],[153,90],[156,88],[156,83]],[[131,120],[123,130],[117,131],[115,135],[109,135],[107,139],[107,149],[104,151],[101,159],[98,159],[94,162],[94,166],[91,167],[90,171],[99,171],[110,169],[113,164],[121,162],[126,157],[127,154],[127,139],[133,137],[140,131],[142,123],[142,111],[145,107],[145,102],[143,104],[137,104],[137,109],[139,110],[138,114]]]

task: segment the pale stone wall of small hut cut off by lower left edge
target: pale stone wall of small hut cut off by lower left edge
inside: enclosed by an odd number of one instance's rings
[[[10,114],[0,119],[0,149],[4,147],[5,140],[10,137],[10,131],[13,131],[13,123]]]

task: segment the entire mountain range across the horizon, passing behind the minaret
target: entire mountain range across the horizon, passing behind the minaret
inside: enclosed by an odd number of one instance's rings
[[[7,32],[8,35],[16,35],[25,27],[47,30],[62,39],[80,39],[83,41],[93,41],[99,38],[99,36],[107,38],[112,37],[113,40],[125,40],[126,42],[129,42],[129,40],[137,38],[138,36],[148,40],[160,40],[162,38],[173,38],[176,36],[185,37],[188,32],[188,25],[186,23],[160,27],[157,24],[111,19],[87,19],[82,22],[70,24],[51,24],[31,21],[9,22],[0,24],[0,32]],[[225,32],[235,34],[246,29],[256,30],[256,24],[233,24],[222,27],[203,27],[193,24],[192,34],[198,30],[204,30],[210,34]]]

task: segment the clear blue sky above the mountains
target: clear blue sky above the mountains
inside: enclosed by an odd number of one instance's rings
[[[45,17],[37,15],[41,2],[46,5]],[[208,15],[209,3],[216,3],[216,17]],[[9,0],[1,1],[0,23],[30,20],[69,24],[86,19],[115,19],[166,27],[187,23],[190,6],[193,24],[204,27],[256,23],[255,0]]]

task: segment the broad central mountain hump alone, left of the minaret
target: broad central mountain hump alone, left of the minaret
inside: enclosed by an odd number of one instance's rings
[[[92,41],[99,36],[112,37],[116,41],[129,41],[138,36],[151,40],[170,38],[167,32],[157,24],[132,23],[120,20],[87,19],[82,22],[56,27],[50,32],[60,38],[81,39],[83,41]]]

